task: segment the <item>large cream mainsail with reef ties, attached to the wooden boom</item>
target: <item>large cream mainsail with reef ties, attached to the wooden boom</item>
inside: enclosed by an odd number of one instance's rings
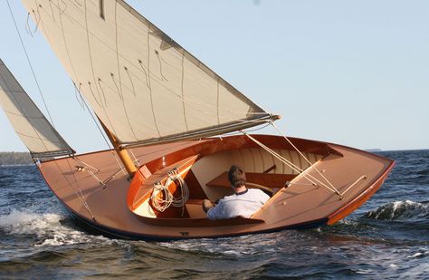
[[[23,0],[122,146],[195,139],[273,117],[121,0]]]

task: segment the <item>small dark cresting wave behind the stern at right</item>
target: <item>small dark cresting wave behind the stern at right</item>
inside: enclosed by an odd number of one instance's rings
[[[368,212],[364,217],[380,220],[426,219],[429,217],[429,202],[395,201]]]

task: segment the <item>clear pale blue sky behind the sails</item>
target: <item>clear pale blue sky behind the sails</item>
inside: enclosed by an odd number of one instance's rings
[[[287,135],[358,149],[429,149],[428,1],[127,2],[280,113]],[[43,35],[28,34],[23,5],[10,3],[55,127],[78,152],[106,149]],[[0,32],[0,58],[44,111],[5,1]],[[0,151],[26,150],[3,111],[0,131]]]

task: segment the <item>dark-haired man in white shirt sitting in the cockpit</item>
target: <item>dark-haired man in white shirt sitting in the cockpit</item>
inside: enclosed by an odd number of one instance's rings
[[[208,199],[203,201],[203,209],[209,219],[251,217],[270,199],[261,189],[246,188],[245,173],[238,166],[233,165],[229,169],[228,180],[234,189],[234,195],[220,199],[216,206]]]

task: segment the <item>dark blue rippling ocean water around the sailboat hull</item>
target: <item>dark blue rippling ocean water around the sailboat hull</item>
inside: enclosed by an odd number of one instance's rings
[[[429,278],[429,150],[380,152],[396,168],[332,227],[175,242],[86,232],[33,166],[0,167],[0,278]]]

